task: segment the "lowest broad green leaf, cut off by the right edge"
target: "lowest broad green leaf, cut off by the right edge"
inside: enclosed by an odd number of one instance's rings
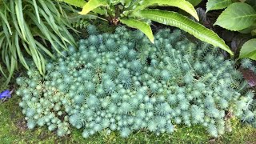
[[[239,58],[251,58],[256,60],[256,38],[250,39],[242,46]]]

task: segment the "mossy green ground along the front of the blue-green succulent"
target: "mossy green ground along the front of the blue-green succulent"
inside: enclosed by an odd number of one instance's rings
[[[0,80],[3,83],[3,80]],[[0,86],[0,91],[6,90]],[[28,130],[22,110],[18,106],[20,98],[15,94],[7,102],[0,103],[0,143],[256,143],[256,129],[232,120],[233,131],[219,138],[210,138],[202,126],[189,128],[179,126],[174,134],[151,134],[140,130],[129,138],[121,138],[118,133],[107,135],[104,131],[94,136],[82,138],[82,130],[72,130],[66,137],[58,137],[46,127]]]

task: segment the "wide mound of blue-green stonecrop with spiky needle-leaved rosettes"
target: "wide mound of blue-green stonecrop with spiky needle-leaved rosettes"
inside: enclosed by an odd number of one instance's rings
[[[255,121],[253,92],[218,48],[195,45],[181,30],[159,30],[154,44],[124,27],[98,34],[90,26],[89,34],[78,50],[70,46],[50,62],[45,77],[34,69],[17,79],[28,128],[48,126],[63,136],[74,126],[84,138],[118,130],[126,138],[141,129],[173,133],[181,124],[217,137],[226,114]]]

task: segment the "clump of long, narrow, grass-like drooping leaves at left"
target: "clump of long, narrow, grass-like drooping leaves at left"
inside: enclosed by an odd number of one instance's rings
[[[54,58],[52,49],[60,51],[67,44],[74,45],[65,17],[58,2],[51,0],[0,1],[0,72],[7,83],[18,65],[30,70],[27,56],[44,74],[46,56]]]

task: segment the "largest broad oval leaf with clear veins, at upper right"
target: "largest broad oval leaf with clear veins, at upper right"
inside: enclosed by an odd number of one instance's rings
[[[222,26],[227,30],[243,30],[252,26],[256,20],[255,10],[248,4],[236,2],[222,12],[214,25]]]

